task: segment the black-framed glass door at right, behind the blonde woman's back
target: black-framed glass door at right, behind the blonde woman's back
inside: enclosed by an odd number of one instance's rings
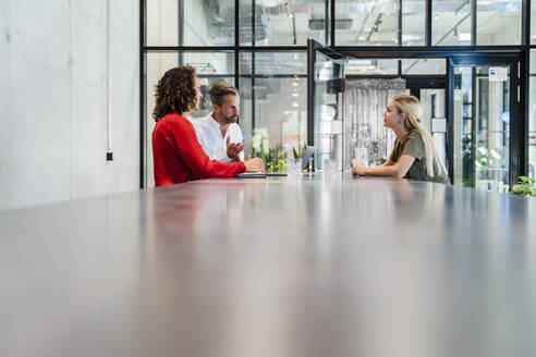
[[[451,63],[453,183],[508,192],[519,173],[512,123],[520,121],[517,62]]]

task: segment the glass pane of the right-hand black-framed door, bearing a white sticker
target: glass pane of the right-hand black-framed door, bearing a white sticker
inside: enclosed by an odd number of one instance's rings
[[[494,76],[502,71],[500,78]],[[456,66],[454,182],[505,192],[510,158],[510,67]],[[490,74],[491,73],[491,74]]]

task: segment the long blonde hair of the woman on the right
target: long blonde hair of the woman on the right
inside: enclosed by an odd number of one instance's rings
[[[407,131],[416,128],[421,133],[425,145],[426,173],[428,176],[434,177],[434,167],[436,167],[439,175],[447,174],[443,160],[441,160],[437,151],[436,140],[421,125],[421,103],[418,99],[414,96],[397,96],[392,98],[392,101],[399,109],[399,112],[405,114],[405,128]]]

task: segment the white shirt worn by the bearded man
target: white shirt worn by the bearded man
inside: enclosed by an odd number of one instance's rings
[[[210,160],[230,162],[231,159],[227,156],[227,138],[230,138],[230,143],[242,143],[242,131],[239,124],[229,124],[226,135],[221,136],[220,123],[212,118],[212,113],[204,118],[192,119],[191,122],[194,125],[197,140]],[[244,161],[244,150],[239,153],[239,158]]]

